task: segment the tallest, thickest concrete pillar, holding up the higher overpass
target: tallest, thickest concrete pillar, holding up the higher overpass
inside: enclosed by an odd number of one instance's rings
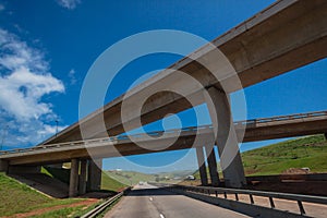
[[[214,124],[218,124],[214,129],[217,131],[216,141],[225,184],[241,187],[246,184],[246,180],[228,96],[215,87],[209,87],[208,94],[209,96],[205,95],[205,98],[210,118]]]

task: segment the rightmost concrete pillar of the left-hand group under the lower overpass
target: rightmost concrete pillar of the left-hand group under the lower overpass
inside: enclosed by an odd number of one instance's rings
[[[98,191],[101,189],[101,175],[102,175],[102,159],[88,161],[88,179],[87,189],[89,191]]]

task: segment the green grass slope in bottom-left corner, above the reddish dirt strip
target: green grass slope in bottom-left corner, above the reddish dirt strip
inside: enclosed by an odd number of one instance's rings
[[[0,215],[10,216],[34,209],[66,205],[81,199],[55,199],[0,173]]]

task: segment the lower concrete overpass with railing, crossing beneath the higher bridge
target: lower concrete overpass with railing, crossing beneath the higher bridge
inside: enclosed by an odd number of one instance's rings
[[[238,121],[234,122],[233,125],[237,132],[245,126],[245,135],[243,140],[239,138],[240,143],[324,134],[327,133],[327,111]],[[165,137],[161,137],[165,132]],[[152,136],[152,138],[148,140],[148,136]],[[172,141],[174,141],[174,143],[171,144],[171,146],[161,147],[162,145],[167,145],[167,142]],[[142,143],[146,147],[140,147],[137,145],[138,143]],[[7,162],[8,172],[15,172],[17,169],[19,172],[20,170],[25,171],[26,169],[28,170],[31,166],[69,162],[72,159],[78,159],[81,164],[83,162],[81,165],[82,169],[87,167],[87,164],[85,162],[92,158],[101,159],[117,156],[196,148],[202,182],[206,185],[208,179],[205,171],[205,165],[202,161],[204,161],[205,158],[210,157],[208,164],[211,168],[213,165],[217,165],[214,153],[207,152],[205,155],[203,152],[203,147],[210,144],[215,144],[214,128],[211,125],[202,125],[184,128],[181,130],[156,131],[147,134],[119,135],[113,137],[3,150],[0,152],[0,160],[2,164]],[[95,166],[94,168],[93,171],[98,170]],[[76,169],[78,168],[76,167]],[[76,170],[75,173],[77,173],[77,171],[78,170]],[[86,171],[86,169],[82,171]],[[87,175],[84,174],[83,177],[85,177],[86,181]],[[93,177],[96,177],[96,173],[94,173]],[[213,170],[210,177],[213,182],[218,185],[219,178],[217,170]]]

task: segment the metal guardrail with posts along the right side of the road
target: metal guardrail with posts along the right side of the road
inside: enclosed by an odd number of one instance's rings
[[[180,189],[184,192],[195,192],[207,195],[218,195],[223,194],[223,198],[228,199],[228,194],[233,194],[235,201],[239,202],[239,195],[249,195],[250,204],[255,205],[253,196],[267,197],[269,199],[270,208],[276,209],[274,198],[293,201],[298,203],[299,210],[301,215],[305,215],[305,209],[303,202],[324,204],[327,205],[327,197],[324,196],[312,196],[312,195],[301,195],[301,194],[289,194],[289,193],[277,193],[277,192],[263,192],[263,191],[252,191],[252,190],[237,190],[237,189],[225,189],[225,187],[207,187],[207,186],[190,186],[190,185],[170,185],[168,189]]]

